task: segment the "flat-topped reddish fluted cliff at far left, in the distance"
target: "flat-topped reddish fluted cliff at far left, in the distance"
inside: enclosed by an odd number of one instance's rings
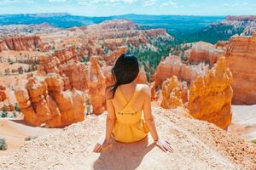
[[[47,51],[49,50],[46,45],[41,41],[38,36],[26,37],[5,37],[0,40],[0,51],[15,50],[15,51]]]

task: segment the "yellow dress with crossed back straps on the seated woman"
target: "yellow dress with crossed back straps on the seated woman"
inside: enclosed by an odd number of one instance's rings
[[[143,116],[144,97],[141,90],[143,85],[137,85],[135,93],[130,101],[127,101],[122,91],[117,88],[112,99],[116,122],[113,127],[113,139],[130,143],[145,138],[148,135],[148,127]]]

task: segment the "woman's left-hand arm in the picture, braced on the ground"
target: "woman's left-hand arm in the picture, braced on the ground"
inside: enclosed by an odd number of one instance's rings
[[[108,116],[106,119],[106,136],[105,140],[103,141],[102,144],[96,144],[94,148],[94,152],[99,153],[102,152],[104,148],[107,148],[109,145],[109,141],[111,138],[111,133],[113,131],[113,125],[116,120],[115,113],[114,113],[114,108],[113,108],[113,103],[110,99],[107,99],[107,110],[108,110]]]

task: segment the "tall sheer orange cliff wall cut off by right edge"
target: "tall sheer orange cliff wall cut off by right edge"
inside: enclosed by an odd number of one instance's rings
[[[233,74],[232,103],[256,104],[256,34],[253,37],[233,37],[225,54]]]

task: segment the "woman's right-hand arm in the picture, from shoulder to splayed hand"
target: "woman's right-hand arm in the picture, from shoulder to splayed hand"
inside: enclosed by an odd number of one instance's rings
[[[172,147],[169,142],[166,140],[160,139],[155,123],[154,123],[154,116],[152,115],[151,111],[151,91],[150,88],[147,86],[143,88],[143,92],[145,94],[144,104],[143,104],[143,111],[145,116],[145,121],[148,125],[149,131],[151,133],[152,138],[154,139],[154,143],[163,151],[172,151]]]

